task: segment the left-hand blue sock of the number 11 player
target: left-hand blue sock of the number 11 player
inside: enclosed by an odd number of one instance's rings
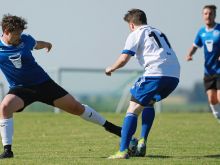
[[[120,151],[128,149],[129,143],[137,128],[137,115],[127,113],[121,131]]]

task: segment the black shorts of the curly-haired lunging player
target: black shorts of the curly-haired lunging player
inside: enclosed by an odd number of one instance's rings
[[[17,112],[22,111],[27,105],[39,101],[54,106],[54,100],[68,94],[61,86],[53,80],[45,81],[41,84],[30,87],[14,87],[8,94],[14,94],[24,101],[24,107]]]

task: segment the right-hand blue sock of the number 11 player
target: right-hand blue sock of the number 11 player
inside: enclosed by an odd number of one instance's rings
[[[145,107],[142,112],[142,127],[140,138],[147,140],[148,134],[150,132],[151,126],[155,118],[154,107]]]

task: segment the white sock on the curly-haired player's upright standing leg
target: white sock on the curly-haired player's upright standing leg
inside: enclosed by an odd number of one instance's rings
[[[11,145],[14,133],[13,118],[0,119],[0,133],[3,146]]]

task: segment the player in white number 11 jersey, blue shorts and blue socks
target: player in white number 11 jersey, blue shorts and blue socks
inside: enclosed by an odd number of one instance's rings
[[[146,141],[153,122],[153,104],[166,98],[178,85],[180,65],[168,39],[160,30],[147,24],[145,13],[131,9],[125,14],[131,33],[125,47],[115,61],[106,68],[108,76],[125,66],[135,56],[143,67],[143,75],[131,88],[131,100],[122,126],[120,150],[109,159],[129,158],[128,147],[137,128],[137,118],[142,112],[142,130],[137,145],[136,156],[145,156]]]

